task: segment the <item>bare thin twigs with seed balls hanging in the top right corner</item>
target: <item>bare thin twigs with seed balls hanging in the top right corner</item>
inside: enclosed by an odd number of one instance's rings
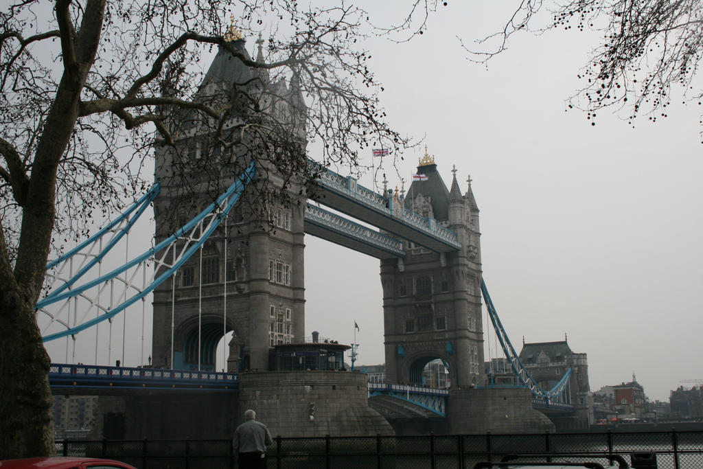
[[[540,23],[538,13],[551,19]],[[546,23],[546,24],[545,24]],[[503,29],[464,44],[470,59],[486,63],[505,51],[518,32],[596,30],[602,43],[593,49],[579,79],[583,86],[569,98],[595,125],[598,111],[614,108],[628,123],[638,115],[651,121],[666,117],[672,94],[700,104],[703,87],[695,82],[703,56],[703,4],[699,0],[569,0],[548,4],[522,0]],[[678,88],[678,91],[674,89]]]

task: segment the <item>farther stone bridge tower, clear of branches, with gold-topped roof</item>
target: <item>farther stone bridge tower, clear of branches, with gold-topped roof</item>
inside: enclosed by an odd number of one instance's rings
[[[404,259],[381,261],[386,376],[390,383],[421,384],[423,368],[441,359],[451,387],[484,384],[479,210],[469,187],[451,190],[434,157],[420,160],[404,205],[456,230],[461,249],[438,253],[404,241]]]

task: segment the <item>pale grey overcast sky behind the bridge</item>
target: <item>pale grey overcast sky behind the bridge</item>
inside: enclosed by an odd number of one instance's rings
[[[413,41],[366,44],[390,122],[424,138],[400,176],[415,170],[425,144],[447,186],[452,165],[463,190],[471,174],[484,280],[518,350],[523,337],[566,334],[574,352],[588,354],[591,390],[635,373],[650,399],[669,399],[680,380],[703,378],[702,111],[673,105],[665,120],[640,117],[635,129],[607,112],[595,127],[579,111],[565,112],[598,34],[522,34],[489,68],[470,63],[457,36],[470,42],[499,30],[510,11],[497,3],[517,1],[450,0]],[[406,4],[364,6],[382,23]],[[253,41],[247,47],[253,51]],[[393,171],[387,176],[400,185]],[[373,186],[372,175],[361,184]],[[312,236],[306,244],[306,334],[350,343],[356,320],[359,363],[382,363],[378,260]],[[140,322],[135,316],[130,330]],[[488,323],[484,311],[486,359],[502,356]],[[116,321],[115,336],[121,327]],[[148,350],[150,330],[144,335]],[[49,350],[63,361],[58,342]]]

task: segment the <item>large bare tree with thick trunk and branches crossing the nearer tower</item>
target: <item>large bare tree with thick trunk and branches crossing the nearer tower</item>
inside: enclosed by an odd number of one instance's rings
[[[434,1],[408,4],[413,15]],[[352,170],[361,148],[407,143],[385,121],[360,44],[368,34],[411,37],[419,32],[412,21],[378,30],[344,1],[309,9],[289,0],[51,5],[16,0],[0,12],[0,458],[53,452],[49,356],[34,318],[49,253],[83,236],[93,213],[146,187],[141,169],[155,134],[183,156],[174,143],[188,133],[167,115],[208,126],[213,167],[223,148],[245,152],[256,141],[276,148],[262,151],[273,170],[303,181],[314,172],[302,140],[316,141],[319,162]],[[268,38],[253,60],[232,36],[259,32]],[[290,80],[307,107],[297,116],[304,134],[285,126],[290,116],[262,117],[255,83],[208,96],[199,60],[215,47],[258,70],[252,77]]]

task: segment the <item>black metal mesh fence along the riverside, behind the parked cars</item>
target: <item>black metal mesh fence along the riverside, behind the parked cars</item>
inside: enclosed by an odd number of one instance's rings
[[[703,468],[703,432],[543,433],[531,435],[425,435],[418,437],[276,437],[269,446],[269,469],[471,469],[508,454],[522,461],[569,462],[588,456],[607,465],[607,454],[626,461],[651,451],[659,469]],[[140,469],[236,468],[231,440],[63,440],[63,456],[124,461]]]

